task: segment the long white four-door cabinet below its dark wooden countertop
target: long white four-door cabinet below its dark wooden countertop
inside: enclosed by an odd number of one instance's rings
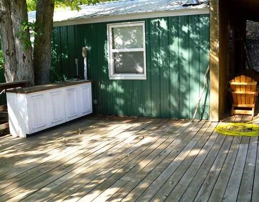
[[[93,112],[91,82],[37,92],[32,90],[31,93],[18,92],[7,92],[13,136],[26,137]]]

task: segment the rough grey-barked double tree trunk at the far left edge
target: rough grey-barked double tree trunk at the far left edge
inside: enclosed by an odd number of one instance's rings
[[[27,20],[25,0],[0,1],[0,29],[6,81],[30,80],[33,85],[32,48],[25,49],[18,37],[21,23]],[[24,36],[29,40],[29,30]]]

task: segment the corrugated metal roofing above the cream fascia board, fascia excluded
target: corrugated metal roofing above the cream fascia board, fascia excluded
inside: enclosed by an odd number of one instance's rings
[[[54,12],[54,23],[77,19],[93,19],[96,17],[141,14],[161,11],[177,11],[187,9],[204,9],[208,7],[208,0],[200,0],[201,5],[183,6],[186,0],[122,0],[100,3],[96,5],[82,5],[79,11],[70,8]],[[35,21],[35,11],[28,13],[29,21]]]

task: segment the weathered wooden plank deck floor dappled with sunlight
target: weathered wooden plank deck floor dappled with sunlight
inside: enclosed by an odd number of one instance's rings
[[[87,117],[1,137],[0,201],[258,201],[258,138],[217,124]]]

